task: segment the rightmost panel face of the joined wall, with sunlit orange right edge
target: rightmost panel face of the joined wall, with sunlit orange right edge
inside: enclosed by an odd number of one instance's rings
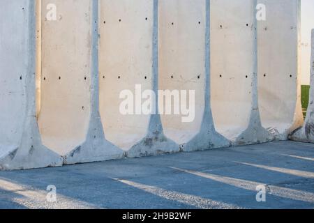
[[[300,1],[258,0],[267,8],[258,22],[258,93],[262,125],[286,140],[303,123],[299,88]]]

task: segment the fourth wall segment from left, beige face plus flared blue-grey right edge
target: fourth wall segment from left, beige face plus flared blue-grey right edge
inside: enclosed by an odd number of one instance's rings
[[[187,95],[195,91],[195,119],[183,122],[186,114],[163,115],[165,134],[184,151],[230,146],[216,132],[211,115],[210,1],[160,1],[159,16],[160,89],[185,90]]]

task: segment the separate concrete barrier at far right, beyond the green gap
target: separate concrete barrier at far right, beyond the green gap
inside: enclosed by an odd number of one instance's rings
[[[295,141],[305,141],[314,143],[314,29],[312,30],[312,49],[311,49],[311,89],[306,112],[306,120],[299,130],[295,131],[290,139]]]

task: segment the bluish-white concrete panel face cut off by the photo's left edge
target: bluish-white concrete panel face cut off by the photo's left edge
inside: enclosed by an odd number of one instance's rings
[[[28,2],[1,1],[0,157],[17,148],[22,138],[26,115],[25,84],[29,55]]]

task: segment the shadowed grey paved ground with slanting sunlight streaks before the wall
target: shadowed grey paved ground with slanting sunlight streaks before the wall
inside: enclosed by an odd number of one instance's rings
[[[47,202],[48,185],[57,202]],[[256,187],[266,185],[266,202]],[[314,208],[314,144],[0,172],[0,208]]]

